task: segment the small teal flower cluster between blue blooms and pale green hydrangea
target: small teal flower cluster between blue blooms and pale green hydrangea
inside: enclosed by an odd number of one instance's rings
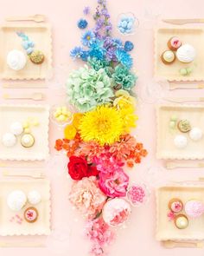
[[[110,62],[106,60],[99,60],[96,57],[88,57],[88,64],[92,67],[92,69],[97,71],[99,71],[99,69],[104,69],[108,76],[112,76],[113,69]]]

